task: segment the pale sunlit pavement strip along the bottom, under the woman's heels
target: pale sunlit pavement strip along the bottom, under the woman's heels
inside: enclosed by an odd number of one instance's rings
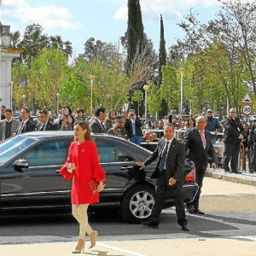
[[[81,255],[97,256],[255,256],[255,236],[229,238],[188,238],[131,241],[97,241]],[[1,256],[70,256],[76,242],[5,245]]]

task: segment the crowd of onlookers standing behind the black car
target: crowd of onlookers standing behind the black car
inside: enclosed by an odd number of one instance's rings
[[[256,166],[256,139],[254,130],[256,126],[236,116],[236,108],[230,108],[230,115],[219,122],[213,116],[212,109],[201,113],[207,120],[206,130],[211,132],[212,145],[222,144],[224,150],[216,150],[214,161],[224,168],[225,172],[238,173],[239,155],[241,155],[241,168],[245,171],[248,162],[249,172],[255,172]],[[11,109],[1,108],[0,140],[7,139],[16,134],[28,131],[73,131],[75,122],[86,121],[90,131],[94,133],[107,133],[115,137],[122,137],[131,143],[142,145],[151,151],[164,136],[164,126],[168,123],[174,125],[177,138],[183,137],[196,130],[196,116],[187,119],[174,115],[166,115],[163,119],[152,120],[147,115],[140,119],[134,109],[122,109],[117,113],[114,109],[96,108],[94,114],[88,118],[83,108],[76,109],[75,113],[68,106],[61,108],[58,116],[53,116],[47,106],[38,111],[37,117],[32,118],[28,108],[20,109],[20,115],[13,117]],[[218,134],[221,135],[218,135]],[[237,137],[239,134],[239,137]],[[255,169],[255,170],[254,170]]]

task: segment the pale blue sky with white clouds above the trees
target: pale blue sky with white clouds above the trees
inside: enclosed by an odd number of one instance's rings
[[[243,0],[241,0],[243,1]],[[247,0],[253,1],[253,0]],[[1,2],[1,0],[0,0]],[[73,54],[84,53],[89,38],[118,44],[127,29],[127,0],[2,0],[0,20],[11,32],[23,35],[33,23],[44,27],[48,36],[60,35],[73,45]],[[218,13],[217,0],[141,0],[144,32],[158,51],[160,15],[165,27],[166,49],[184,37],[177,26],[193,8],[199,20],[207,22]]]

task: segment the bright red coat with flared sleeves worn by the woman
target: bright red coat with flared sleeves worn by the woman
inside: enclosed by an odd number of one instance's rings
[[[73,163],[76,169],[72,173],[67,172],[67,166]],[[78,145],[77,141],[71,143],[67,161],[60,170],[65,179],[73,177],[71,202],[73,205],[91,204],[99,201],[99,193],[92,194],[87,182],[92,178],[96,181],[105,180],[106,172],[99,163],[99,155],[96,144],[93,141],[85,141]]]

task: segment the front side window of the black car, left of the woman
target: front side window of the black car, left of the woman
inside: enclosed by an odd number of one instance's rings
[[[24,159],[29,166],[60,166],[67,159],[69,144],[67,141],[42,143],[32,148]]]

